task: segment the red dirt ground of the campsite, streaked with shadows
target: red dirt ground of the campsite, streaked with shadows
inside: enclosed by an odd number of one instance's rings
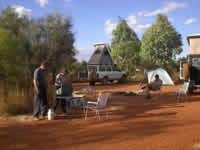
[[[75,89],[86,83],[74,84]],[[1,150],[198,150],[200,149],[200,94],[178,102],[165,86],[162,95],[112,96],[110,119],[96,120],[90,112],[57,116],[56,120],[0,121]],[[136,84],[97,85],[96,91],[130,91]]]

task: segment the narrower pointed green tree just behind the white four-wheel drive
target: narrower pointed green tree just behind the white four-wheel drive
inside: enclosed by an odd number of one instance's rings
[[[111,54],[114,62],[120,69],[135,72],[136,65],[139,64],[140,40],[134,30],[132,30],[124,19],[119,17],[119,23],[113,31],[111,42]]]

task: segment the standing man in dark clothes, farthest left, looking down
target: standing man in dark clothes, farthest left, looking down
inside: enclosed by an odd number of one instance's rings
[[[34,71],[33,85],[34,85],[34,120],[39,120],[41,112],[42,118],[47,114],[47,77],[46,70],[48,69],[47,61],[43,61],[40,67]]]

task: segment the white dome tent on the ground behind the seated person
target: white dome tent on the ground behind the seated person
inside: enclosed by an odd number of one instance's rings
[[[162,68],[158,68],[147,73],[149,83],[155,80],[156,74],[159,75],[159,78],[163,81],[163,85],[174,85],[174,82],[172,81],[167,71]]]

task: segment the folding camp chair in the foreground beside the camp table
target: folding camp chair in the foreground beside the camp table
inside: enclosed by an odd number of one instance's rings
[[[85,120],[87,119],[88,109],[96,111],[96,117],[100,120],[99,110],[105,109],[110,93],[102,92],[96,102],[88,101],[86,105]],[[108,118],[108,113],[106,113]]]

